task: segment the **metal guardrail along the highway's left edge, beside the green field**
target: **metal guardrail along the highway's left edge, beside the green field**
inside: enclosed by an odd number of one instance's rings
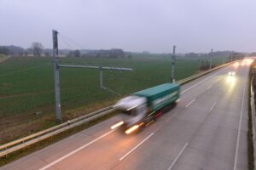
[[[235,61],[234,61],[235,62]],[[209,70],[209,71],[203,71],[201,73],[198,73],[194,76],[191,77],[187,77],[184,78],[183,80],[177,81],[176,83],[180,83],[180,84],[184,84],[186,82],[190,82],[198,77],[202,77],[212,71],[216,71],[219,68],[222,68],[226,65],[230,65],[233,62],[224,64],[224,65],[219,65],[217,67],[214,67],[213,69]],[[73,127],[77,127],[81,124],[83,124],[84,122],[90,122],[96,118],[99,118],[101,116],[105,116],[108,113],[110,113],[111,111],[113,111],[113,106],[108,106],[106,108],[103,108],[99,111],[94,111],[88,115],[84,115],[84,116],[79,116],[78,118],[75,118],[71,121],[67,121],[64,123],[61,123],[60,125],[57,125],[55,127],[50,127],[48,129],[45,129],[44,131],[40,131],[38,133],[33,133],[29,136],[26,136],[24,138],[21,139],[17,139],[15,141],[9,142],[7,144],[2,144],[0,146],[0,157],[2,156],[7,156],[9,153],[15,152],[17,150],[23,149],[26,146],[29,146],[31,144],[35,144],[39,141],[42,141],[44,139],[48,139],[49,137],[52,137],[56,134],[62,133],[67,131],[68,129],[71,129]]]

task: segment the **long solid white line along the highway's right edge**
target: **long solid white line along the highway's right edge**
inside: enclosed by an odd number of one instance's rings
[[[237,166],[237,158],[238,158],[238,150],[239,150],[239,142],[240,142],[240,133],[241,133],[241,120],[242,120],[242,108],[243,108],[243,103],[244,103],[244,97],[245,97],[245,91],[247,88],[247,79],[244,82],[244,89],[243,89],[243,94],[242,94],[242,100],[241,100],[241,111],[240,111],[240,120],[239,120],[239,125],[238,125],[238,134],[236,138],[236,155],[235,155],[235,161],[234,161],[234,170],[236,170]]]

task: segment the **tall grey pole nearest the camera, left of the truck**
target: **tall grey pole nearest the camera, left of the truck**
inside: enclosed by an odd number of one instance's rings
[[[59,58],[58,58],[58,32],[52,31],[53,56],[55,71],[55,108],[56,122],[61,122],[61,97],[60,97],[60,77],[59,77]]]

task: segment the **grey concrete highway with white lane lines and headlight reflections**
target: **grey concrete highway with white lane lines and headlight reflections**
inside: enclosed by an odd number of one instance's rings
[[[114,116],[0,169],[247,169],[248,70],[229,65],[183,85],[177,106],[139,133],[111,130]]]

